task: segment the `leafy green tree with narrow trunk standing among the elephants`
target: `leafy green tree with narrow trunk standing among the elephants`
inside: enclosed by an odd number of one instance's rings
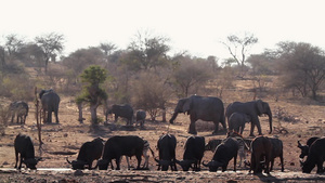
[[[107,100],[107,93],[101,88],[101,83],[104,83],[107,79],[107,71],[100,66],[92,65],[83,70],[80,78],[84,86],[81,94],[77,96],[77,104],[89,103],[91,122],[96,125],[99,122],[96,109],[103,102],[105,104]]]

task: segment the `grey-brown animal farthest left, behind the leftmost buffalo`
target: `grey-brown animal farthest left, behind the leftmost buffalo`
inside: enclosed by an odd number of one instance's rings
[[[17,123],[25,123],[26,117],[28,115],[28,104],[23,101],[16,101],[12,102],[9,105],[9,112],[11,114],[11,123],[13,123],[13,119],[16,116],[17,117]]]

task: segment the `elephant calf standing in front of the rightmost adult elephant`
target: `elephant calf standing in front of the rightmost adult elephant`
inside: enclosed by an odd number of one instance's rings
[[[233,113],[229,120],[227,120],[227,127],[229,131],[235,131],[239,134],[243,134],[245,123],[249,122],[250,116],[243,114],[243,113]]]

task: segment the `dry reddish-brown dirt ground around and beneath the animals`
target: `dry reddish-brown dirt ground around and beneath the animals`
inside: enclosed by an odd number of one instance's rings
[[[164,133],[172,133],[178,140],[177,158],[182,159],[183,146],[186,138],[188,116],[180,114],[174,125],[167,122],[146,121],[145,128],[126,128],[122,120],[114,123],[113,120],[108,126],[100,125],[95,129],[90,128],[89,112],[84,112],[87,120],[84,123],[77,121],[78,110],[68,97],[62,97],[60,107],[60,125],[42,126],[42,153],[38,151],[38,133],[35,120],[35,106],[29,103],[30,113],[25,126],[10,125],[5,129],[5,135],[0,136],[0,182],[325,182],[325,174],[316,174],[314,169],[312,173],[301,173],[299,166],[299,153],[297,141],[301,140],[304,144],[307,139],[313,135],[325,135],[325,107],[324,105],[313,105],[310,103],[300,104],[299,102],[274,102],[268,101],[273,110],[274,132],[270,135],[277,135],[284,143],[285,172],[281,172],[280,160],[275,159],[274,171],[271,175],[251,174],[247,168],[237,168],[233,172],[233,162],[231,161],[227,171],[209,172],[206,167],[202,167],[200,172],[183,171],[156,171],[157,166],[152,155],[150,158],[150,170],[135,171],[128,170],[125,158],[122,159],[121,170],[70,170],[70,165],[66,162],[66,157],[70,160],[77,158],[77,153],[82,143],[101,136],[105,141],[113,135],[139,135],[147,140],[151,147],[156,151],[158,138]],[[281,109],[281,110],[280,110]],[[170,118],[172,108],[168,109],[167,119]],[[99,115],[102,113],[99,110]],[[281,120],[276,118],[281,116]],[[284,118],[286,117],[286,118]],[[262,131],[269,132],[268,117],[261,117]],[[197,122],[198,135],[206,138],[206,143],[210,139],[224,139],[225,134],[211,135],[212,130],[206,130],[203,126],[212,127],[210,122]],[[244,136],[248,136],[250,123],[246,126]],[[18,133],[25,133],[32,138],[36,156],[41,156],[37,171],[23,169],[17,171],[13,169],[15,165],[13,142]],[[257,130],[255,131],[257,133]],[[269,134],[268,134],[269,135]],[[73,155],[69,155],[73,154]],[[210,160],[212,152],[206,152],[205,161]],[[248,155],[250,158],[250,155]],[[94,162],[95,164],[95,162]],[[135,166],[135,158],[131,159]],[[52,170],[50,168],[57,168]],[[181,167],[178,167],[181,170]]]

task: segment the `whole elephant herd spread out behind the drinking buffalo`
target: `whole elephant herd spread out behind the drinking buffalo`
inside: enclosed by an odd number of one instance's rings
[[[55,116],[55,122],[58,123],[58,105],[60,105],[60,96],[57,93],[50,90],[41,90],[39,93],[39,99],[41,101],[41,109],[42,117],[44,123],[52,123],[52,113]],[[14,116],[17,117],[17,123],[25,123],[26,116],[28,115],[28,105],[25,102],[18,101],[10,104],[10,112],[12,115],[12,120]],[[225,117],[227,118],[229,131],[235,131],[243,134],[245,123],[251,123],[250,135],[253,136],[255,127],[258,129],[259,135],[262,134],[261,125],[259,121],[259,116],[268,115],[270,122],[270,133],[272,132],[272,113],[269,104],[261,100],[240,103],[234,102],[231,103],[226,109],[224,109],[223,102],[213,96],[199,96],[192,95],[190,97],[180,99],[174,108],[173,115],[170,118],[169,122],[173,123],[179,113],[186,113],[190,115],[190,128],[188,133],[197,134],[195,122],[200,119],[204,121],[212,121],[214,123],[213,134],[218,133],[219,122],[222,125],[223,130],[226,130]],[[105,112],[105,117],[107,121],[107,117],[109,114],[114,114],[115,122],[119,117],[122,117],[127,120],[127,126],[131,126],[133,123],[133,118],[140,126],[144,126],[144,121],[146,118],[145,110],[138,110],[135,113],[135,117],[133,116],[133,108],[129,104],[112,105]]]

